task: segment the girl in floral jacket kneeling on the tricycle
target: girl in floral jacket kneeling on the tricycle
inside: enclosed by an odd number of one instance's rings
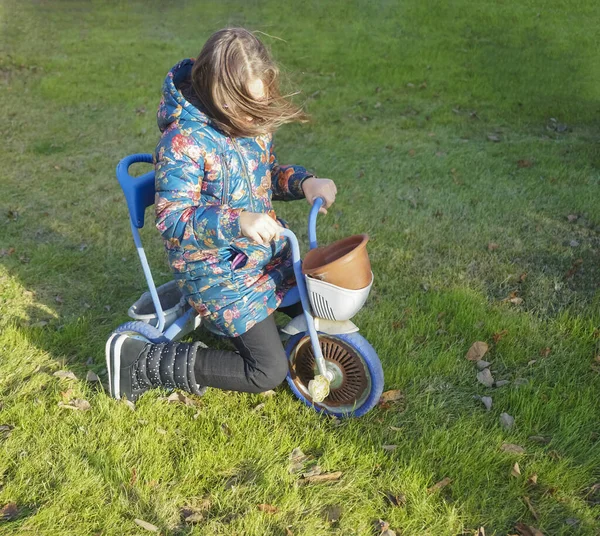
[[[306,117],[281,96],[265,46],[242,28],[216,32],[196,60],[168,73],[158,110],[156,225],[183,295],[237,352],[112,334],[112,396],[134,401],[156,386],[257,393],[285,379],[273,313],[294,275],[271,201],[323,197],[326,209],[337,193],[329,179],[278,164],[272,134],[293,121]]]

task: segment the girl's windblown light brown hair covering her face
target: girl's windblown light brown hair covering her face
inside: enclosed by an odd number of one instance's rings
[[[264,85],[264,99],[255,99],[249,90],[255,79]],[[308,120],[280,94],[277,65],[244,28],[219,30],[208,39],[194,63],[192,85],[204,111],[229,136],[255,137],[284,123]]]

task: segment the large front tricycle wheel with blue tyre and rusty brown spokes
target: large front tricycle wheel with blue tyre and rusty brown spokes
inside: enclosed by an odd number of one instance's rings
[[[327,335],[319,333],[327,368],[334,371],[327,398],[314,403],[308,382],[318,374],[310,337],[294,335],[286,345],[290,371],[287,382],[307,406],[336,417],[361,417],[373,409],[383,392],[383,369],[377,353],[358,333]]]

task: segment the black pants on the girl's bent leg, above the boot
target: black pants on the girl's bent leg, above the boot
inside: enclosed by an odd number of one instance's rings
[[[297,304],[280,311],[295,317],[302,313],[302,307]],[[239,353],[210,348],[198,350],[194,366],[198,385],[262,393],[285,380],[288,363],[273,315],[230,340]]]

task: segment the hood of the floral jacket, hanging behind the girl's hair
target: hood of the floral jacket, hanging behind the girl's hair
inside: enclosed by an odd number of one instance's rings
[[[211,123],[204,112],[185,99],[180,89],[182,84],[189,83],[193,65],[193,59],[182,60],[168,72],[165,78],[156,115],[161,132],[175,122],[195,121],[203,126]]]

